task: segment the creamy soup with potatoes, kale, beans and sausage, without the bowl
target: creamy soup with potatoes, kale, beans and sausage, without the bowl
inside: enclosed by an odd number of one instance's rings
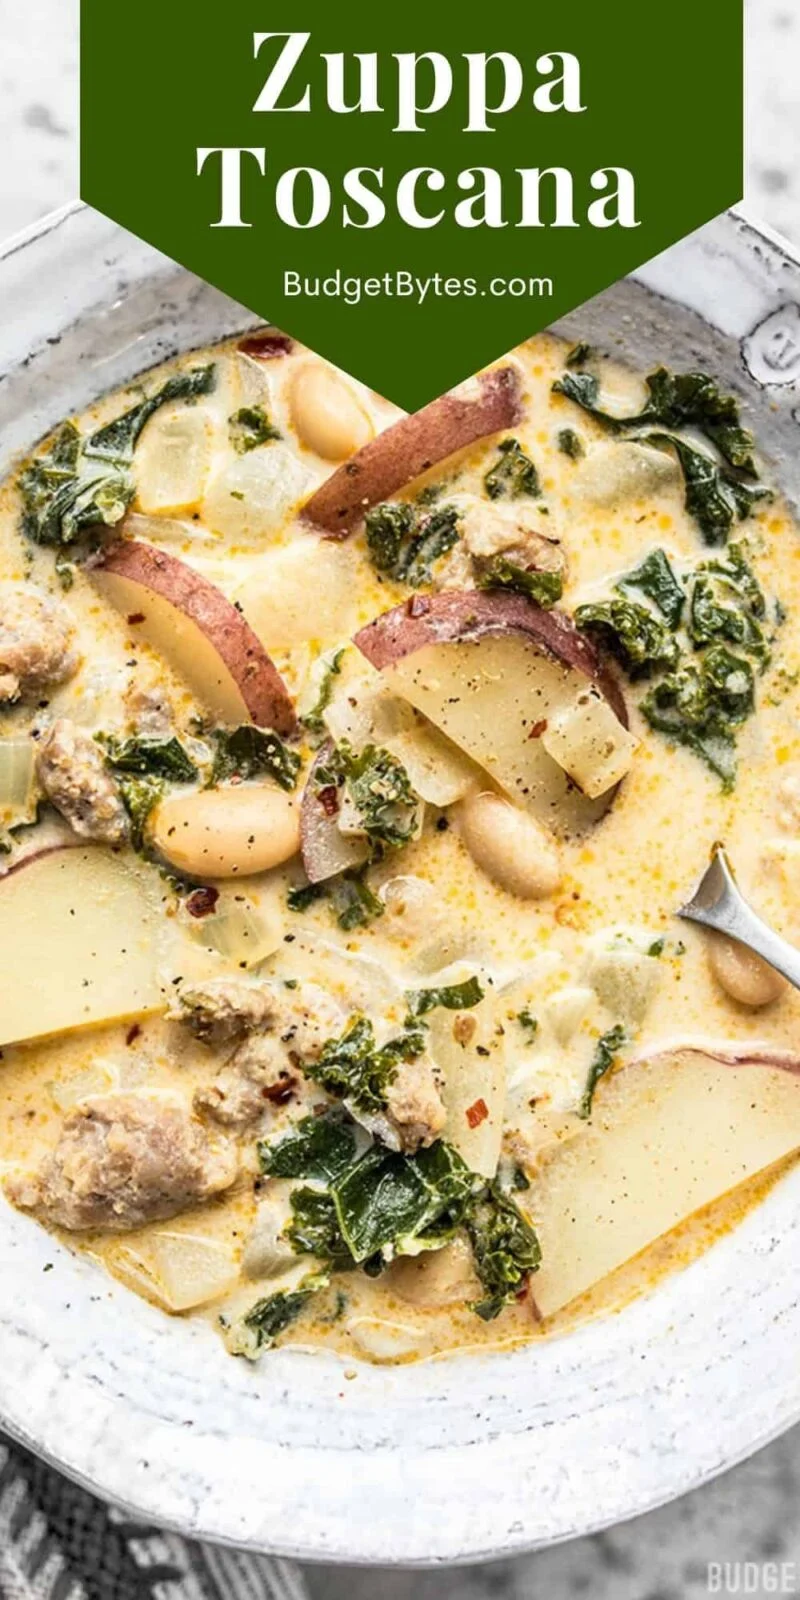
[[[264,330],[0,494],[8,1200],[238,1355],[509,1344],[800,1147],[800,542],[712,374]]]

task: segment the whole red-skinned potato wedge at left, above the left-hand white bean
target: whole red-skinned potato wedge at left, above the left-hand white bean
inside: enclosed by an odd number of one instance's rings
[[[131,629],[186,677],[222,722],[294,733],[290,691],[230,600],[176,555],[123,539],[93,568],[94,582]]]

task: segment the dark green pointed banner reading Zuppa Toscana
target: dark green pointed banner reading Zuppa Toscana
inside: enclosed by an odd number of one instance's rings
[[[83,198],[408,410],[741,190],[742,0],[82,0]]]

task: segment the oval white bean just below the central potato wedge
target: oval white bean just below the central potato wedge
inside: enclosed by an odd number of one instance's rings
[[[562,882],[552,834],[496,794],[469,795],[461,808],[464,843],[482,870],[517,899],[546,899]]]

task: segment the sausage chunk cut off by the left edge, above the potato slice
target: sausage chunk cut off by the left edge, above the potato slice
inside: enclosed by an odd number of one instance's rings
[[[77,667],[72,618],[30,584],[0,584],[0,704],[62,683]]]

